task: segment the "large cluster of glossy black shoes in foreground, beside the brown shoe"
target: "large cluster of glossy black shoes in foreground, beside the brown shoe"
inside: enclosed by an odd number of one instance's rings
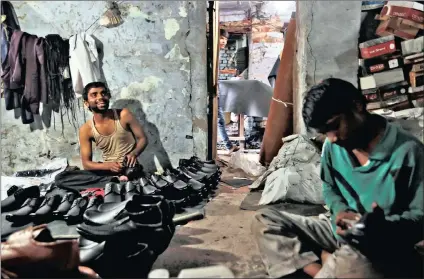
[[[121,196],[111,191],[116,185],[109,183],[104,199],[86,210],[83,223],[77,226],[81,263],[111,277],[123,276],[117,262],[127,266],[125,272],[135,266],[137,276],[146,276],[175,232],[174,203],[163,196],[140,195],[132,186],[126,183]]]

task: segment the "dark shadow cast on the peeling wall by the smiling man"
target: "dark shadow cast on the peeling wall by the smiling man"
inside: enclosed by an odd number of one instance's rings
[[[155,156],[163,168],[172,167],[168,153],[160,139],[159,130],[155,124],[147,120],[141,102],[134,99],[120,99],[113,102],[112,107],[115,109],[128,108],[141,123],[148,141],[146,149],[138,157],[144,170],[146,172],[156,171]]]

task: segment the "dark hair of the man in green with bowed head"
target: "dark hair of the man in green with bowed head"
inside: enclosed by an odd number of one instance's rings
[[[348,113],[357,104],[366,107],[365,97],[353,84],[328,78],[306,92],[302,116],[306,127],[319,128],[335,115]]]

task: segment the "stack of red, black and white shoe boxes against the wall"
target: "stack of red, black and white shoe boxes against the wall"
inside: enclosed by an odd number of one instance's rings
[[[376,39],[359,44],[367,109],[405,109],[424,100],[424,6],[388,1],[376,15]]]

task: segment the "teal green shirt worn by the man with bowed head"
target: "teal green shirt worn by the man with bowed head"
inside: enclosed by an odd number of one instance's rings
[[[327,140],[321,158],[321,179],[334,233],[334,217],[340,211],[351,209],[364,214],[376,202],[384,210],[386,220],[405,229],[412,225],[417,231],[410,233],[422,238],[423,153],[424,145],[416,137],[387,121],[384,135],[365,166],[355,165],[346,149]]]

